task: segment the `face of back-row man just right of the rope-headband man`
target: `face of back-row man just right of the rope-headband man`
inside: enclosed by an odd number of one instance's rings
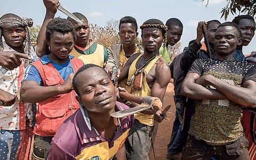
[[[170,26],[167,30],[167,43],[171,46],[175,45],[180,41],[180,37],[182,35],[183,28],[179,26]]]

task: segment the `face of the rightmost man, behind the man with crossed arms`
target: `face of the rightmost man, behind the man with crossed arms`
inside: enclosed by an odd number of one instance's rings
[[[238,23],[238,27],[241,29],[242,33],[242,45],[246,46],[251,42],[254,36],[255,22],[251,19],[241,19]]]

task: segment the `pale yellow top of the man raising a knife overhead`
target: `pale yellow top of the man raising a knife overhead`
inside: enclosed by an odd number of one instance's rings
[[[92,54],[81,54],[78,53],[74,47],[70,55],[75,56],[78,59],[81,59],[85,64],[92,63],[103,67],[104,63],[104,47],[100,44],[97,44],[96,50]]]

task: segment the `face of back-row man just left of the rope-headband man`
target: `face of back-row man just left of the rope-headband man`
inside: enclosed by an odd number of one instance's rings
[[[135,42],[136,33],[133,23],[122,23],[119,28],[119,37],[124,46],[131,46]]]

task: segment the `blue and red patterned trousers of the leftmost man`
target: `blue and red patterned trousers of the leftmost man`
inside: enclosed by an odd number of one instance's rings
[[[28,125],[26,130],[1,130],[0,159],[29,159],[32,137],[33,128]]]

